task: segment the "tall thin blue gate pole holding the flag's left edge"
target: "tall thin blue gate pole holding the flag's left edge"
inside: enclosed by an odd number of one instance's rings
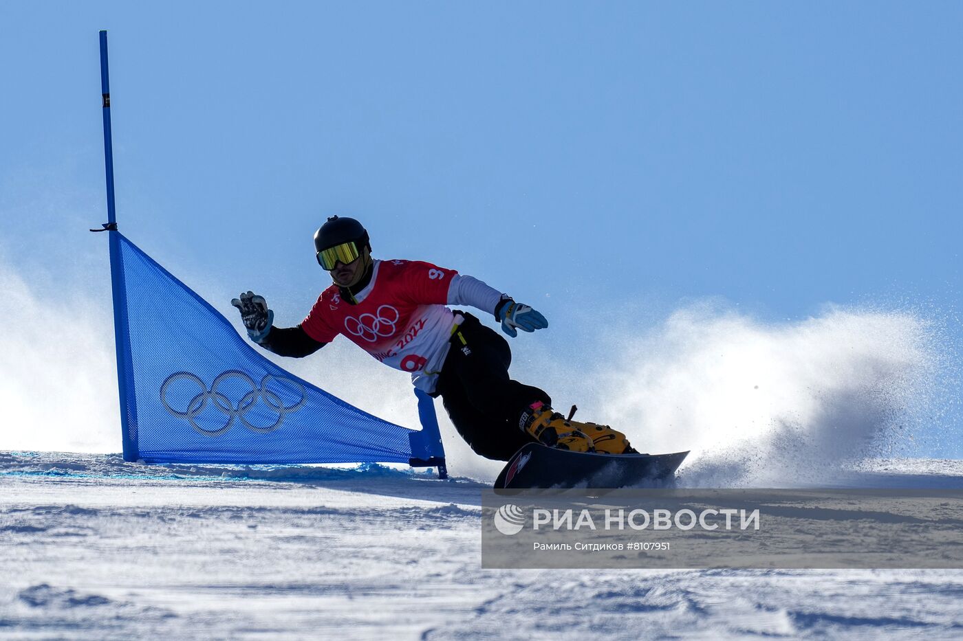
[[[107,174],[107,224],[104,225],[104,229],[108,230],[110,235],[111,290],[114,296],[114,341],[117,349],[117,392],[120,397],[123,458],[125,461],[136,461],[140,458],[137,444],[137,411],[134,398],[128,396],[128,392],[133,389],[131,380],[133,370],[130,363],[130,339],[127,326],[127,290],[123,278],[120,237],[117,232],[117,209],[114,201],[114,145],[111,138],[111,86],[107,64],[106,31],[100,32],[100,93],[103,96],[104,169]]]

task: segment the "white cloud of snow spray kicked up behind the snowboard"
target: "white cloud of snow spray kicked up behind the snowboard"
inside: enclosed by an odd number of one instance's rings
[[[832,482],[864,457],[912,455],[941,397],[940,333],[909,312],[772,323],[692,305],[623,341],[600,418],[634,417],[641,449],[691,449],[693,486]]]

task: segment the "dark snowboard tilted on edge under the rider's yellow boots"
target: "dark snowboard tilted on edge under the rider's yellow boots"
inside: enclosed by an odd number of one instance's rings
[[[633,486],[672,477],[688,454],[601,454],[530,443],[508,460],[495,489]]]

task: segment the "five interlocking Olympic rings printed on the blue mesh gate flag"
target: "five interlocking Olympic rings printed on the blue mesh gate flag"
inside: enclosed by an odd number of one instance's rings
[[[237,407],[234,407],[231,400],[218,391],[218,388],[221,386],[221,384],[229,378],[237,378],[247,383],[247,385],[250,385],[250,392],[247,392],[244,397],[241,397],[241,399],[238,401]],[[168,391],[170,385],[180,380],[196,383],[197,387],[200,389],[200,392],[198,392],[197,395],[188,402],[187,408],[183,412],[170,407],[168,402]],[[292,386],[292,391],[297,391],[296,393],[299,393],[300,395],[299,401],[293,405],[285,405],[281,397],[268,389],[268,385],[272,381],[276,381],[278,383],[283,382]],[[258,398],[263,400],[264,404],[270,407],[274,412],[277,412],[277,421],[266,427],[248,423],[247,419],[245,418],[247,413],[254,406],[254,403],[257,402]],[[221,414],[223,414],[227,419],[227,423],[215,427],[214,429],[206,429],[196,423],[195,419],[207,406],[208,401],[211,402],[213,407],[221,411]],[[291,414],[292,412],[298,411],[304,405],[304,403],[307,402],[307,392],[304,389],[304,386],[301,385],[297,380],[283,378],[273,374],[266,374],[264,378],[261,379],[261,385],[258,386],[249,374],[246,372],[240,372],[239,370],[228,370],[227,372],[221,372],[218,374],[218,377],[214,379],[214,382],[211,383],[211,389],[208,390],[207,385],[204,384],[204,381],[201,380],[200,376],[197,376],[191,372],[176,372],[170,374],[164,381],[164,384],[161,385],[161,402],[164,404],[165,409],[168,410],[171,416],[175,416],[178,419],[184,419],[188,423],[191,423],[191,426],[194,427],[195,431],[198,434],[203,434],[204,436],[220,436],[230,429],[231,425],[233,425],[235,421],[240,421],[241,424],[243,424],[252,432],[256,432],[258,434],[268,434],[273,432],[275,429],[280,427],[282,423],[284,423],[285,416]]]

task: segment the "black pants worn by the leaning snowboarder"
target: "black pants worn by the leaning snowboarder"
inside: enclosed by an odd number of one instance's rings
[[[452,336],[433,396],[441,397],[458,434],[476,453],[507,461],[534,441],[518,425],[522,411],[536,400],[551,405],[552,399],[511,380],[508,341],[471,314],[459,314],[465,321]]]

